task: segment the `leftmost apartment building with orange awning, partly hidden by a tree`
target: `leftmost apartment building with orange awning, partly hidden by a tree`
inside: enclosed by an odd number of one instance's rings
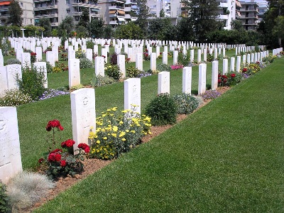
[[[33,25],[35,23],[33,16],[33,0],[20,0],[18,3],[23,9],[23,26]],[[9,18],[9,6],[11,0],[0,0],[0,26],[6,25]]]

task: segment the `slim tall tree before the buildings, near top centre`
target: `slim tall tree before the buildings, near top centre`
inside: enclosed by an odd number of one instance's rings
[[[140,26],[144,33],[147,32],[147,18],[150,17],[150,9],[147,6],[147,0],[137,0],[137,20],[136,24]]]

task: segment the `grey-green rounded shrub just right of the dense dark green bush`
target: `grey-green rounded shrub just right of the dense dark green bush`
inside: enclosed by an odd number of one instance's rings
[[[178,106],[178,114],[190,114],[199,105],[197,99],[190,94],[176,94],[173,99]]]

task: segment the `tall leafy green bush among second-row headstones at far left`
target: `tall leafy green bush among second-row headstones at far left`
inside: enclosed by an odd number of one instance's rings
[[[38,72],[35,68],[22,68],[22,78],[18,79],[18,86],[21,92],[28,94],[31,99],[36,100],[45,91],[45,76],[43,72]]]

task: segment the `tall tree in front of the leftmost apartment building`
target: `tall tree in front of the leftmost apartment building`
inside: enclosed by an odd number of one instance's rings
[[[11,23],[13,26],[22,26],[22,16],[23,10],[21,9],[20,4],[16,1],[11,1],[9,6],[9,18],[8,23]]]

